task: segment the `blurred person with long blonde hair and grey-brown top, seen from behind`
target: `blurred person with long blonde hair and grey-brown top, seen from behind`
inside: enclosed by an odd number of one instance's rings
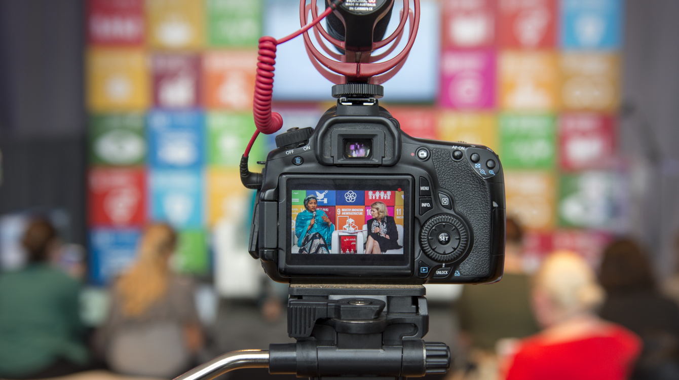
[[[117,373],[176,377],[194,365],[202,348],[193,284],[170,270],[176,244],[172,227],[150,225],[136,263],[113,286],[109,318],[97,338]]]

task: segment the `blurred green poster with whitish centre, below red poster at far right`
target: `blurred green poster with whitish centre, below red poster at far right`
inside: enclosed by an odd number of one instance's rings
[[[613,228],[625,209],[620,177],[613,172],[562,174],[559,224],[565,227]]]

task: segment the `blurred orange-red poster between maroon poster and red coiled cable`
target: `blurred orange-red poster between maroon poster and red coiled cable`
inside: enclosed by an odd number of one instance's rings
[[[257,51],[208,52],[203,59],[205,106],[252,110]]]

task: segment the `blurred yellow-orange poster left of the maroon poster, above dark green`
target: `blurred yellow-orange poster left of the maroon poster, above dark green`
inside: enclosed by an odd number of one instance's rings
[[[90,111],[145,111],[149,105],[149,68],[143,50],[93,48],[87,53],[86,71]]]

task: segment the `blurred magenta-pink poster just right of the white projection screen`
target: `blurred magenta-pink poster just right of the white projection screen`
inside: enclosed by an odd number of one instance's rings
[[[441,59],[439,104],[453,109],[491,109],[495,105],[495,54],[492,50],[446,50]]]

